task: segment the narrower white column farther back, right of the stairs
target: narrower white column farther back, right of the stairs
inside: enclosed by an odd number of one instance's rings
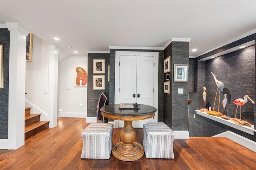
[[[47,45],[49,50],[49,84],[48,84],[48,116],[49,127],[57,126],[58,105],[58,53],[60,48],[55,45]]]

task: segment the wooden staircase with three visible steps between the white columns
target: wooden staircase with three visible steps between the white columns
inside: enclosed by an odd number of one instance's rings
[[[40,114],[30,114],[31,107],[25,108],[25,140],[49,128],[50,121],[40,121]]]

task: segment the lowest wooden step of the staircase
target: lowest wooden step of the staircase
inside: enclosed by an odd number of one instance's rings
[[[25,140],[49,128],[50,121],[40,121],[25,127]]]

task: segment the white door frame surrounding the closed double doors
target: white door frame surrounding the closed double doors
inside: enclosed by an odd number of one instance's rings
[[[120,55],[136,55],[136,56],[154,56],[154,107],[157,109],[153,119],[153,123],[158,122],[158,60],[159,52],[149,51],[116,51],[115,64],[115,104],[119,104],[119,62]],[[118,128],[118,120],[114,120],[114,127]]]

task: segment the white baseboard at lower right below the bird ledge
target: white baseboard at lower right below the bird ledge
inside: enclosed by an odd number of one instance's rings
[[[253,140],[250,140],[248,138],[245,138],[244,136],[240,136],[239,134],[236,134],[236,133],[231,132],[229,130],[226,131],[226,132],[217,134],[213,137],[229,138],[230,140],[233,140],[234,142],[239,143],[240,145],[256,152],[256,142],[254,142]]]

